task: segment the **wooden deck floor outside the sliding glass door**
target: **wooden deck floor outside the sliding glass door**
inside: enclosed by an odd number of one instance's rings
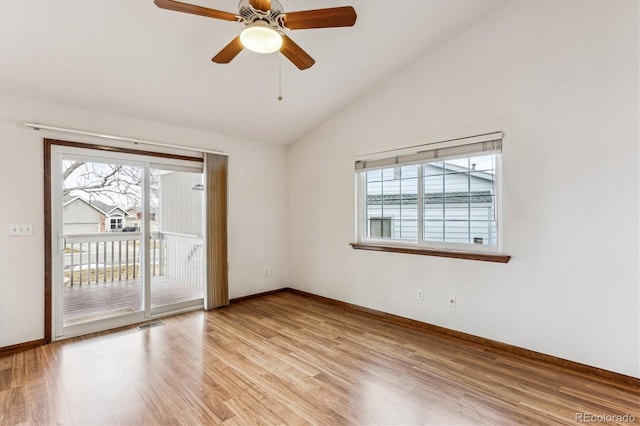
[[[151,306],[165,306],[202,298],[202,291],[165,276],[151,280]],[[107,318],[144,309],[139,278],[64,289],[64,323]]]

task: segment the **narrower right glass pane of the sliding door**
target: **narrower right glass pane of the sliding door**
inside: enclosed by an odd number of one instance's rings
[[[153,165],[150,188],[151,311],[203,303],[203,175]]]

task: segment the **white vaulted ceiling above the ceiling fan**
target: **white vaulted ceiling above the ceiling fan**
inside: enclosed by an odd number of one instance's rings
[[[237,12],[236,0],[183,1]],[[278,101],[279,54],[211,62],[239,23],[152,0],[0,0],[0,91],[288,144],[507,1],[281,0],[285,11],[352,5],[358,20],[289,33],[316,64],[282,57]]]

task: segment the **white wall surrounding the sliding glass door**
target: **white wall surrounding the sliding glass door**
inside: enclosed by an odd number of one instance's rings
[[[89,141],[36,132],[25,121],[227,152],[230,297],[287,284],[285,147],[1,95],[0,347],[44,335],[42,139]],[[9,237],[11,223],[33,224],[33,235]]]

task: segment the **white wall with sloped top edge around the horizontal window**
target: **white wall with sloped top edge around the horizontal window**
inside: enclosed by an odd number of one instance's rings
[[[639,5],[516,0],[291,145],[292,286],[640,377]],[[357,155],[499,130],[510,263],[348,245]]]

